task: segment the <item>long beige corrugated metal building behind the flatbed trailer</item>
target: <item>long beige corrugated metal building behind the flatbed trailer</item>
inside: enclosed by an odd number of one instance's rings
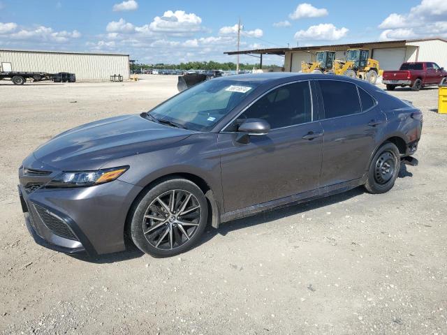
[[[129,54],[0,50],[0,62],[13,71],[75,73],[76,80],[110,80],[114,74],[129,79]]]

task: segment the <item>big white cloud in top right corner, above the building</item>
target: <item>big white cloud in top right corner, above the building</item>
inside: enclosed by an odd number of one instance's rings
[[[381,40],[447,37],[447,1],[422,0],[409,13],[392,13],[379,24]],[[418,28],[418,29],[416,29]]]

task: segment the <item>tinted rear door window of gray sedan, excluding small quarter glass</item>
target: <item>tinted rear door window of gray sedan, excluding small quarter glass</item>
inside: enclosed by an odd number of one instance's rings
[[[361,112],[355,84],[339,80],[319,80],[325,111],[325,119],[344,117]]]

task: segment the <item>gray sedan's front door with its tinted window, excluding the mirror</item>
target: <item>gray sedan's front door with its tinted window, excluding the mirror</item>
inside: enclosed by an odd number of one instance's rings
[[[265,119],[267,135],[237,142],[244,119]],[[323,129],[313,115],[308,81],[277,87],[218,136],[225,211],[234,211],[318,188]]]

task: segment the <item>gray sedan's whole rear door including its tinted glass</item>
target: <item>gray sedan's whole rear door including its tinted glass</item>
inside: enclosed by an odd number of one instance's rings
[[[342,80],[318,80],[324,131],[321,186],[363,176],[386,117],[365,90]]]

